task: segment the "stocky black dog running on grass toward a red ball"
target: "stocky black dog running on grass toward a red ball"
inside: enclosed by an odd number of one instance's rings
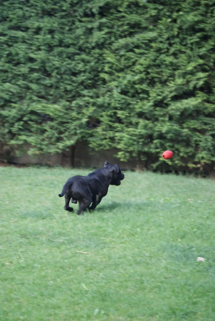
[[[65,195],[66,211],[73,211],[73,207],[69,207],[69,202],[72,198],[72,203],[79,203],[77,214],[81,214],[87,208],[94,210],[101,202],[102,197],[107,195],[109,185],[120,185],[124,179],[124,174],[118,165],[112,165],[106,160],[104,166],[87,176],[73,176],[69,178],[63,187],[60,197]],[[90,204],[92,205],[90,206]]]

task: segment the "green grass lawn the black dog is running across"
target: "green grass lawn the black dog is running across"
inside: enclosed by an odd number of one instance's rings
[[[214,181],[125,172],[95,211],[64,211],[88,172],[0,168],[0,320],[214,321]]]

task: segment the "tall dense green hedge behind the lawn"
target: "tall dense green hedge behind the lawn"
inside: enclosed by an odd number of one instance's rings
[[[215,1],[0,3],[0,148],[215,162]],[[17,149],[17,147],[16,147]]]

